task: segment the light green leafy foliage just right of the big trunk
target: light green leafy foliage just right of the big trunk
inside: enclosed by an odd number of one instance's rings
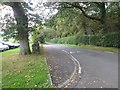
[[[32,32],[31,32],[31,40],[32,43],[40,42],[45,43],[45,39],[52,39],[56,36],[55,30],[49,27],[46,27],[46,25],[42,23],[37,23],[33,26]]]

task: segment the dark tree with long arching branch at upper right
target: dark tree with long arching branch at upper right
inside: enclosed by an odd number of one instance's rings
[[[69,5],[69,7],[79,9],[86,18],[99,21],[101,23],[101,29],[103,33],[109,32],[107,28],[107,21],[110,18],[109,13],[111,13],[111,15],[115,18],[116,13],[118,12],[116,10],[119,10],[117,8],[119,7],[118,2],[87,2],[66,4]]]

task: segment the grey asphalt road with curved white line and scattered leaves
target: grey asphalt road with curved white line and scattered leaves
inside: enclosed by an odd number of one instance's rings
[[[117,54],[59,44],[44,47],[55,87],[118,88]]]

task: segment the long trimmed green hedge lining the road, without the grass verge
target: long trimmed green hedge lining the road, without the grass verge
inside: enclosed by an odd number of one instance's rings
[[[60,44],[76,44],[76,45],[95,45],[103,47],[116,47],[120,48],[119,42],[120,33],[113,32],[105,35],[82,35],[82,36],[71,36],[63,38],[52,39],[51,42]]]

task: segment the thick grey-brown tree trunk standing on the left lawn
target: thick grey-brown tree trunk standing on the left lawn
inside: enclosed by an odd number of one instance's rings
[[[20,42],[20,55],[30,54],[28,40],[28,18],[20,2],[11,2],[9,6],[13,8],[14,16],[17,22],[18,37]]]

